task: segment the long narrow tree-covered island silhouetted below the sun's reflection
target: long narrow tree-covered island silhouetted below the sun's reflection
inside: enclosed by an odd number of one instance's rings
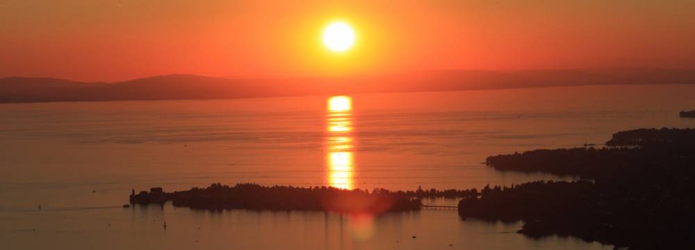
[[[131,203],[165,203],[197,209],[224,210],[325,210],[344,213],[379,214],[391,211],[419,210],[420,199],[405,192],[384,189],[343,190],[332,187],[300,188],[291,186],[265,187],[257,184],[237,184],[233,187],[215,183],[208,188],[162,192],[153,188],[131,194]]]

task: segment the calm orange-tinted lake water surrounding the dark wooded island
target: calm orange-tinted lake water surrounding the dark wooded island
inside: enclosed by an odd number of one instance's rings
[[[414,190],[569,179],[496,172],[481,163],[500,153],[600,146],[612,133],[632,128],[695,127],[695,119],[678,117],[680,110],[695,109],[694,95],[689,85],[610,85],[3,104],[0,244],[2,249],[610,248],[575,238],[534,240],[514,233],[521,223],[462,221],[448,210],[365,217],[121,205],[132,188],[171,191],[217,182]]]

